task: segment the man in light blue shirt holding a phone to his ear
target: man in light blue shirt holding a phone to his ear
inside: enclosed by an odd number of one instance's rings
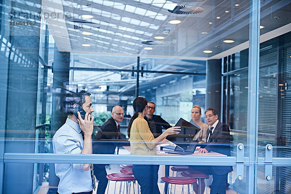
[[[84,90],[66,94],[64,108],[68,117],[52,138],[53,153],[92,154],[94,109],[90,95]],[[78,105],[86,112],[84,119],[80,112],[78,118],[72,112]],[[56,163],[55,173],[60,178],[58,194],[92,194],[95,189],[91,164]]]

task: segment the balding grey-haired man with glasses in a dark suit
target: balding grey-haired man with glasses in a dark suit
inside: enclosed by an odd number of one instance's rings
[[[120,139],[119,123],[123,120],[124,111],[122,107],[114,106],[111,114],[112,117],[101,126],[102,131],[98,132],[94,138],[93,154],[114,154],[116,146],[119,146],[117,142],[110,142],[110,140]],[[94,164],[94,175],[99,180],[97,194],[104,194],[107,187],[106,165]]]

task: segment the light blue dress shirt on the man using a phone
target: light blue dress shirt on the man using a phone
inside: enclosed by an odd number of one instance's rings
[[[53,153],[81,154],[84,140],[79,124],[66,119],[65,124],[57,130],[52,138]],[[58,193],[72,194],[93,190],[90,170],[82,170],[83,164],[56,163],[55,172],[60,178]]]

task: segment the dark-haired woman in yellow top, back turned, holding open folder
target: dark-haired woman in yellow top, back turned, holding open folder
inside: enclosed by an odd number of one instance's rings
[[[135,113],[130,118],[128,135],[131,154],[156,155],[156,146],[162,143],[168,135],[178,134],[180,127],[166,129],[159,137],[154,138],[144,116],[147,113],[147,100],[137,97],[133,100]],[[141,194],[160,194],[158,187],[159,165],[133,164],[132,171],[137,182],[141,186]]]

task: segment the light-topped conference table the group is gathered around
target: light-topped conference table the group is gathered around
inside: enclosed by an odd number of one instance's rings
[[[169,153],[166,153],[165,151],[162,151],[161,150],[161,146],[176,146],[173,142],[170,142],[168,140],[163,140],[162,141],[162,144],[158,145],[157,146],[157,155],[164,155],[164,156],[193,156],[193,157],[197,157],[197,156],[225,156],[227,157],[226,155],[224,154],[220,154],[220,153],[217,153],[217,152],[208,152],[208,153],[198,153],[198,150],[195,150],[193,154],[189,154],[189,155],[179,155],[179,154],[169,154]],[[130,149],[130,146],[123,146],[123,148],[125,148],[127,151],[129,151],[129,153],[131,153],[131,149]],[[199,147],[198,147],[199,148]],[[165,177],[168,177],[170,175],[170,165],[165,165]],[[165,193],[167,192],[168,190],[168,183],[165,183],[165,187],[164,187],[164,191]]]

